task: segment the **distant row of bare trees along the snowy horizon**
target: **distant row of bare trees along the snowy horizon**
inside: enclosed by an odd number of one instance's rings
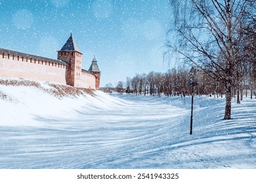
[[[236,98],[237,103],[250,93],[251,99],[253,95],[256,97],[256,70],[253,67],[248,68],[250,72],[246,73],[240,85],[233,85],[231,93],[232,98]],[[174,68],[167,73],[150,72],[148,74],[136,74],[135,77],[127,77],[126,81],[119,81],[115,87],[107,84],[104,88],[105,92],[118,94],[135,94],[136,96],[189,96],[192,87],[189,86],[191,75],[187,68]],[[252,81],[254,80],[254,81]],[[197,96],[212,96],[223,98],[225,95],[225,84],[214,79],[208,73],[199,70],[195,76],[197,85],[194,86],[194,92]],[[103,89],[103,88],[102,88]],[[239,92],[238,92],[239,90]]]

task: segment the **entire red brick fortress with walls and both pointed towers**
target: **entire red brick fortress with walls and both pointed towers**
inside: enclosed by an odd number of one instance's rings
[[[82,69],[82,53],[72,34],[57,51],[57,59],[0,48],[0,77],[22,78],[99,89],[101,72],[95,57],[89,70]]]

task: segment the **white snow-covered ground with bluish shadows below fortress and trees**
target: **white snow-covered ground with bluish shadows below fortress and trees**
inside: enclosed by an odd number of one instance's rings
[[[256,168],[256,99],[196,96],[189,135],[189,97],[0,95],[0,168]]]

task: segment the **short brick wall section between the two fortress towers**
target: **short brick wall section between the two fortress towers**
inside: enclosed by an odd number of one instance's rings
[[[95,89],[95,76],[91,73],[82,71],[79,81],[76,83],[79,88],[92,88]]]

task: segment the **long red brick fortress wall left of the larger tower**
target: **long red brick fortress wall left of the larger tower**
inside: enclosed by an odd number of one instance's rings
[[[66,85],[66,65],[46,60],[37,60],[0,55],[0,77],[16,77],[35,81],[50,81]]]

